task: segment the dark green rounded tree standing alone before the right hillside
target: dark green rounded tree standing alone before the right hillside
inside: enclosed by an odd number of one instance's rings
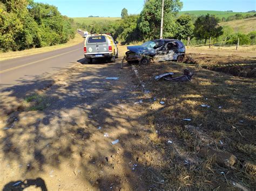
[[[223,27],[218,26],[219,19],[215,15],[202,15],[194,23],[194,36],[197,39],[217,38],[223,34]]]

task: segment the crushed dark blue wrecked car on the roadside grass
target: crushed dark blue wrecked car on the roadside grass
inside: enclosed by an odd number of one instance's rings
[[[125,60],[128,63],[139,61],[149,64],[152,60],[183,62],[186,48],[180,40],[158,39],[150,40],[140,46],[127,46]]]

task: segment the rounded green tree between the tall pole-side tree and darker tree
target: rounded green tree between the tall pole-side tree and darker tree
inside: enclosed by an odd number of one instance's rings
[[[177,34],[176,38],[185,39],[191,37],[194,30],[194,25],[190,15],[181,15],[176,20],[177,24]]]

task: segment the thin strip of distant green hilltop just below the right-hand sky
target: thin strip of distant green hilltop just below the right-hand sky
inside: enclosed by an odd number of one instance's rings
[[[227,11],[180,11],[179,15],[183,15],[185,13],[190,13],[191,15],[194,15],[196,17],[201,15],[207,15],[209,13],[210,15],[216,15],[220,19],[225,17],[234,16],[235,14],[241,14],[242,16],[246,15],[254,15],[255,12],[227,12]]]

